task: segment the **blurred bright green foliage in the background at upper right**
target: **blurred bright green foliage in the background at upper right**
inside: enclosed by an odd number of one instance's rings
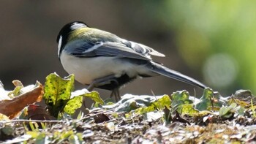
[[[208,86],[256,90],[256,1],[144,1],[156,22],[175,34],[176,47]],[[157,12],[152,10],[157,4]]]

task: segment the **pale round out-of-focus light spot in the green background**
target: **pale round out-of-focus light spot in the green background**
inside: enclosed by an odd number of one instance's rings
[[[204,78],[210,86],[225,88],[230,86],[238,75],[236,59],[226,53],[219,53],[206,60],[203,67]]]

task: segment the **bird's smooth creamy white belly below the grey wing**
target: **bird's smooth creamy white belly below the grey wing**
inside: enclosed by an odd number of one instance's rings
[[[75,75],[75,80],[89,85],[93,80],[106,77],[108,75],[128,75],[136,77],[138,75],[138,65],[120,61],[115,57],[78,58],[61,54],[61,64],[69,74]]]

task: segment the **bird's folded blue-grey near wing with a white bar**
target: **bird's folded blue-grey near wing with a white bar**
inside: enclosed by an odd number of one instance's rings
[[[127,45],[118,42],[76,42],[67,45],[67,53],[76,57],[118,56],[120,58],[136,58],[151,60],[149,55],[138,53]]]

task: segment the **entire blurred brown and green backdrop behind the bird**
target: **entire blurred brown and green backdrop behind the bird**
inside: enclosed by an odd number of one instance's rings
[[[64,24],[81,20],[165,53],[165,58],[154,60],[224,96],[240,88],[256,90],[255,2],[1,1],[0,12],[0,80],[6,89],[12,89],[16,79],[29,85],[44,83],[51,72],[67,76],[57,57],[56,36]],[[76,83],[78,88],[84,86]],[[162,76],[135,80],[121,94],[182,89],[202,94]]]

